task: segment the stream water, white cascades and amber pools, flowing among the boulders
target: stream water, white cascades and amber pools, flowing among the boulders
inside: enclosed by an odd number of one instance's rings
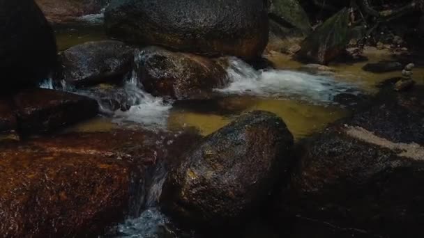
[[[81,22],[84,23],[56,26],[59,49],[67,49],[91,40],[106,39],[103,29],[97,24],[101,19],[102,15],[90,15],[82,17]],[[386,56],[369,56],[372,62],[383,57]],[[66,84],[54,86],[49,80],[40,86],[89,95],[100,103],[105,116],[68,128],[66,132],[107,131],[140,125],[175,132],[181,129],[195,129],[202,135],[208,135],[227,125],[241,113],[265,110],[276,113],[285,120],[294,137],[299,139],[319,132],[328,123],[349,115],[349,109],[335,102],[337,95],[375,93],[377,83],[400,76],[400,72],[363,72],[361,68],[365,63],[332,65],[335,73],[314,75],[298,71],[301,64],[287,56],[274,53],[266,55],[266,58],[275,65],[275,69],[255,70],[238,58],[230,58],[227,74],[231,83],[227,88],[216,90],[220,96],[202,102],[172,102],[153,97],[137,83],[135,72],[128,76],[119,93],[108,95],[110,99],[124,97],[126,104],[130,105],[128,110],[110,111],[105,100],[93,95],[89,90],[75,90]],[[137,62],[137,57],[135,61]],[[418,74],[424,75],[422,68],[417,70]],[[424,83],[424,79],[418,79],[418,82]],[[144,191],[146,198],[143,206],[146,209],[139,216],[117,225],[105,237],[192,237],[190,233],[181,235],[181,232],[169,225],[171,220],[156,207],[166,173],[165,168],[156,168],[151,186]],[[266,229],[261,229],[259,235],[252,235],[255,232],[250,232],[251,234],[245,237],[264,237]],[[179,235],[176,235],[177,233]],[[266,237],[277,236],[267,234]]]

